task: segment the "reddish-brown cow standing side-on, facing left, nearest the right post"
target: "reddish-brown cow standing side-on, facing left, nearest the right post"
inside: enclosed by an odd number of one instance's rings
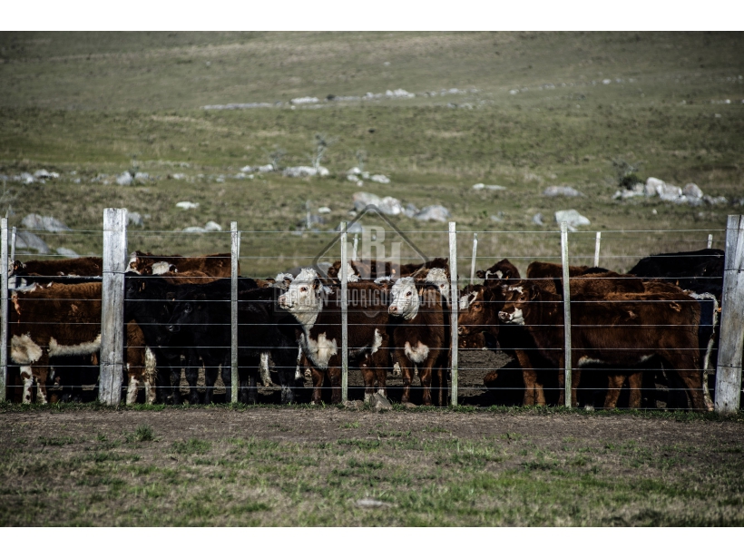
[[[580,283],[576,284],[574,296],[576,280],[571,281],[573,405],[577,403],[576,388],[582,365],[637,367],[659,356],[675,369],[693,406],[700,410],[707,408],[699,367],[700,306],[695,299],[681,289],[675,293],[607,291],[601,298],[582,297]],[[592,279],[578,281],[583,281],[584,286],[594,282]],[[543,356],[559,368],[560,383],[565,366],[563,297],[545,289],[546,283],[525,280],[510,287],[499,317],[507,323],[524,323]],[[592,286],[586,290],[596,293],[601,289]]]

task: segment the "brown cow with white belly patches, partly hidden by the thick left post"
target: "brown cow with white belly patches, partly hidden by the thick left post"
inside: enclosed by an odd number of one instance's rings
[[[101,288],[101,283],[51,283],[13,292],[8,337],[11,360],[21,367],[24,403],[31,402],[34,379],[36,401],[46,403],[50,357],[91,355],[101,348]],[[127,403],[133,403],[138,385],[152,386],[153,379],[145,373],[142,330],[133,322],[127,324],[127,358]],[[150,394],[148,389],[148,399]]]

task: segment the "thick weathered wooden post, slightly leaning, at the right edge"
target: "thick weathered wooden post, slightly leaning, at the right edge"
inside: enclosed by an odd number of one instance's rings
[[[716,412],[736,413],[741,399],[741,352],[744,349],[744,215],[729,215],[723,297],[720,301]]]

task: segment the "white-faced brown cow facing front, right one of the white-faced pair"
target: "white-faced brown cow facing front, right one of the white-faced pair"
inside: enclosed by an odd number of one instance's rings
[[[444,311],[446,302],[439,287],[405,277],[396,280],[390,297],[387,311],[392,317],[393,355],[403,375],[401,402],[409,401],[414,367],[418,367],[424,405],[432,404],[434,385],[434,400],[437,405],[445,406],[449,328]]]

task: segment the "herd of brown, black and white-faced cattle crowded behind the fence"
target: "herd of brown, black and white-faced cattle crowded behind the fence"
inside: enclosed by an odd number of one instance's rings
[[[628,406],[639,407],[644,373],[661,367],[676,405],[710,410],[706,373],[715,362],[723,261],[721,250],[708,249],[641,259],[627,274],[572,266],[572,404],[582,404],[582,381],[601,378],[605,408],[618,405],[626,382]],[[259,382],[278,384],[282,403],[297,401],[309,376],[311,403],[340,403],[340,267],[337,261],[326,273],[305,268],[238,279],[240,402],[257,402]],[[522,278],[502,259],[478,271],[482,284],[461,289],[457,300],[450,299],[446,259],[350,261],[347,274],[348,364],[361,371],[365,400],[387,397],[387,378],[395,376],[403,384],[400,402],[411,405],[417,374],[420,402],[446,405],[454,304],[460,348],[513,357],[525,406],[563,404],[560,265],[534,261]],[[82,386],[94,387],[102,275],[100,258],[14,262],[8,399],[76,400]],[[230,254],[133,252],[124,289],[126,402],[135,403],[143,387],[147,403],[181,404],[184,376],[189,403],[210,403],[220,375],[230,401]],[[488,371],[485,386],[497,386],[500,373]],[[560,395],[552,397],[547,387],[555,385]]]

